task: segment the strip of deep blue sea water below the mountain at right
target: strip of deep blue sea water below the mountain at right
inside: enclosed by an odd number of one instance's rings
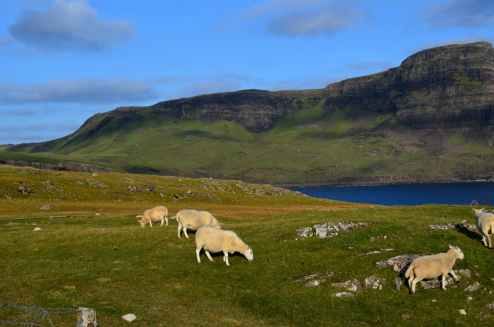
[[[418,206],[421,204],[457,204],[479,206],[494,198],[494,182],[406,184],[382,186],[331,186],[292,189],[314,198],[382,206]],[[494,201],[490,201],[494,206]]]

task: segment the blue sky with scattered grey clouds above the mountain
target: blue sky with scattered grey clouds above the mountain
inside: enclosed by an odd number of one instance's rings
[[[119,106],[324,88],[493,31],[492,0],[4,0],[0,144]]]

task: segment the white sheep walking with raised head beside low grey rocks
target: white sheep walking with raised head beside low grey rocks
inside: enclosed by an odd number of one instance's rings
[[[423,279],[432,279],[442,277],[442,290],[446,290],[445,278],[450,273],[454,282],[458,283],[459,278],[453,271],[454,263],[457,259],[462,260],[464,254],[458,246],[451,246],[446,253],[433,254],[430,256],[419,256],[411,261],[409,268],[406,270],[405,278],[408,278],[410,293],[415,293],[415,284]]]

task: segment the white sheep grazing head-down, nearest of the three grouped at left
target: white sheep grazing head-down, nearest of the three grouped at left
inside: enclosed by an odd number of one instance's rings
[[[248,261],[253,261],[254,254],[252,249],[240,239],[240,237],[231,230],[219,230],[215,227],[204,226],[200,227],[195,233],[195,255],[200,263],[200,250],[204,249],[207,258],[212,261],[210,252],[223,252],[223,261],[230,266],[228,262],[228,254],[239,252],[247,258]]]

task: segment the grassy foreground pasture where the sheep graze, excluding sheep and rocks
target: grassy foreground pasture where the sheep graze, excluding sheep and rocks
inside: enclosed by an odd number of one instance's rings
[[[22,186],[27,191],[21,194]],[[140,191],[137,191],[140,189]],[[481,326],[494,322],[493,250],[469,230],[431,224],[474,223],[469,206],[367,206],[309,198],[262,184],[135,174],[84,174],[0,165],[0,321],[25,316],[18,307],[97,309],[100,326]],[[40,210],[44,205],[52,210]],[[253,248],[195,259],[195,234],[176,237],[169,226],[141,228],[135,215],[157,205],[171,215],[209,210],[224,229]],[[66,216],[66,217],[59,217]],[[16,219],[30,218],[30,219]],[[296,240],[295,230],[321,222],[371,222],[327,239]],[[35,227],[41,230],[33,232]],[[386,236],[386,237],[385,237]],[[371,238],[374,240],[372,241]],[[398,273],[376,268],[400,254],[433,254],[458,245],[455,268],[471,278],[447,290],[414,295],[392,287]],[[378,249],[392,251],[367,254]],[[318,287],[298,282],[320,273]],[[386,278],[382,290],[355,297],[332,284]],[[475,282],[481,288],[467,292]],[[472,299],[469,300],[468,298]],[[459,314],[464,309],[466,315]],[[127,323],[124,314],[137,319]],[[487,314],[487,315],[486,315]],[[490,316],[488,316],[490,315]],[[54,326],[75,326],[76,315],[52,314]],[[38,320],[39,326],[50,326]],[[6,324],[6,326],[9,326]]]

